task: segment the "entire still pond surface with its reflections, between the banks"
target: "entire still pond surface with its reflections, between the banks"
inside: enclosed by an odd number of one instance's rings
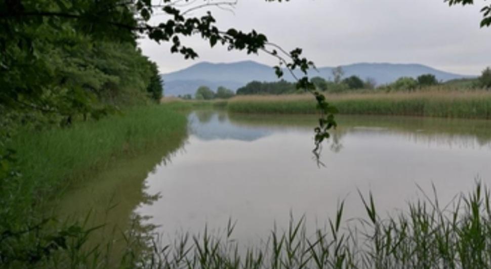
[[[202,232],[205,223],[217,231],[231,218],[234,237],[253,243],[275,224],[287,227],[291,215],[323,227],[341,200],[346,218],[364,216],[358,190],[393,215],[423,197],[419,188],[433,197],[434,185],[445,204],[476,180],[491,185],[491,121],[340,116],[318,167],[313,115],[188,117],[189,137],[174,154],[162,161],[154,149],[122,160],[72,190],[62,211],[95,208],[120,227],[138,219],[167,239]]]

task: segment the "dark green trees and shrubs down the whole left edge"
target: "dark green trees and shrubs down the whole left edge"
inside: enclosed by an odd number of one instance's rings
[[[35,236],[43,223],[32,214],[34,203],[16,200],[29,194],[20,193],[24,177],[10,138],[20,129],[98,119],[117,107],[161,97],[158,70],[137,48],[137,35],[119,31],[119,24],[137,22],[131,7],[120,4],[0,3],[0,263],[42,259],[70,237]]]

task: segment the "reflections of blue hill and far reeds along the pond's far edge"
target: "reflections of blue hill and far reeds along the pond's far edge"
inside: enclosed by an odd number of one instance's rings
[[[232,139],[255,141],[278,131],[310,131],[313,115],[247,115],[200,110],[189,115],[190,129],[201,140]],[[348,134],[394,135],[416,144],[448,147],[490,147],[491,123],[486,120],[440,119],[398,116],[338,116],[329,148],[343,149]]]

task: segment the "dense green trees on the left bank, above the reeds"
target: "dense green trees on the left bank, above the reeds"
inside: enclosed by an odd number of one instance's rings
[[[70,8],[96,8],[83,1],[75,4],[3,4],[0,104],[11,110],[63,116],[69,123],[77,114],[99,118],[111,106],[144,99],[147,90],[159,99],[160,81],[149,83],[158,76],[156,66],[141,55],[131,31],[120,33],[117,39],[98,37],[88,35],[88,18],[66,21],[48,16]],[[131,13],[121,14],[132,18]],[[90,23],[87,27],[93,26]]]

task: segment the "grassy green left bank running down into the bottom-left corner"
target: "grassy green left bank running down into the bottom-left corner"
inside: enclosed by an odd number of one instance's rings
[[[57,216],[53,201],[63,201],[60,197],[71,186],[98,178],[121,159],[156,148],[160,156],[166,156],[182,145],[186,135],[186,116],[166,105],[135,107],[67,128],[19,131],[9,146],[16,150],[16,170],[22,173],[2,182],[6,195],[2,197],[0,263],[8,267],[43,264],[50,253],[68,249],[68,242],[85,242],[88,231],[83,225],[52,218]],[[70,251],[78,253],[73,246]]]

